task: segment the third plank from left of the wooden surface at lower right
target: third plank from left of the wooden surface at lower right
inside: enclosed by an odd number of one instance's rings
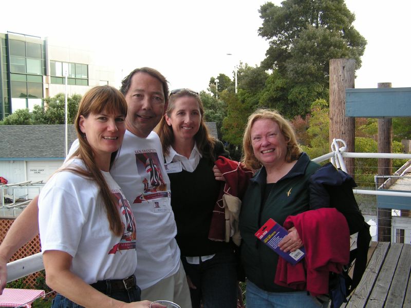
[[[402,307],[411,271],[411,245],[402,245],[400,259],[384,307]]]

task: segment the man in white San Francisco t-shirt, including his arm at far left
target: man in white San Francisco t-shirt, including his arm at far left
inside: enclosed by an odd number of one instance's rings
[[[141,299],[166,299],[191,307],[190,292],[175,241],[177,227],[170,203],[170,180],[164,169],[160,139],[152,132],[163,117],[168,85],[152,68],[132,71],[120,91],[128,106],[126,133],[110,174],[131,204],[137,224],[137,284]],[[34,204],[34,205],[33,205]],[[18,216],[0,245],[0,294],[6,263],[38,233],[37,198]]]

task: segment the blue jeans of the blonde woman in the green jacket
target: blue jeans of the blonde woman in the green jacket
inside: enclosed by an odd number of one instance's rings
[[[246,306],[247,308],[321,308],[322,304],[315,297],[308,295],[307,291],[267,292],[247,280]],[[325,307],[327,306],[328,302]]]

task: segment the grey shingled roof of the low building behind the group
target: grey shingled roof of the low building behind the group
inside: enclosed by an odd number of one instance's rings
[[[207,122],[211,135],[217,138],[217,126]],[[0,160],[64,160],[64,125],[0,125]],[[74,125],[68,125],[68,148],[77,139]]]

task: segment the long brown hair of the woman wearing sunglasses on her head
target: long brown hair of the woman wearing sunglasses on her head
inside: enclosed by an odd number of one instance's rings
[[[214,157],[215,138],[210,135],[207,125],[204,121],[204,107],[202,105],[201,99],[198,94],[188,89],[182,89],[176,93],[173,93],[172,95],[170,95],[169,104],[167,105],[167,109],[165,110],[165,113],[170,117],[171,113],[173,112],[175,108],[175,102],[179,98],[182,98],[182,97],[193,97],[196,99],[198,103],[198,107],[200,109],[201,120],[200,120],[200,127],[198,128],[197,133],[194,135],[194,140],[202,156],[215,160],[216,159]],[[167,125],[167,122],[165,121],[165,117],[162,117],[155,131],[157,132],[158,137],[160,137],[164,156],[168,155],[169,146],[174,141],[173,128]]]

